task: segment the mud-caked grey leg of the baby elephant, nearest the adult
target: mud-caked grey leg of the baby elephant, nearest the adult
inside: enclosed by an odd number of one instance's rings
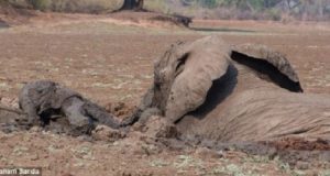
[[[84,105],[85,101],[80,98],[72,97],[64,101],[62,111],[68,118],[74,131],[78,130],[82,131],[82,133],[89,133],[94,125],[91,119],[85,114]]]

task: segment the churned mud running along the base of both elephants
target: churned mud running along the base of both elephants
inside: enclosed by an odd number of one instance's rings
[[[129,114],[131,113],[132,112]],[[78,136],[77,132],[72,130],[69,122],[65,118],[53,119],[43,129],[31,129],[31,127],[22,125],[18,122],[20,119],[23,119],[23,116],[18,116],[15,112],[0,110],[0,129],[4,133],[37,130],[40,132],[47,131],[54,134]],[[8,119],[4,119],[4,117]],[[9,124],[3,123],[3,121],[11,122]],[[185,151],[188,148],[206,147],[215,152],[238,151],[248,155],[264,156],[270,160],[279,158],[283,162],[288,163],[293,168],[301,167],[300,164],[302,162],[302,164],[306,164],[304,165],[304,169],[308,169],[309,167],[327,168],[328,166],[322,166],[321,164],[323,162],[330,162],[330,142],[321,139],[311,141],[302,138],[286,138],[267,142],[217,142],[198,138],[182,138],[177,131],[166,128],[166,125],[164,127],[164,123],[156,122],[152,125],[154,127],[134,124],[131,129],[110,130],[110,133],[105,133],[102,128],[97,128],[92,132],[92,135],[82,136],[88,141],[110,140],[114,142],[124,140],[127,136],[130,136],[130,133],[143,132],[145,135],[141,135],[141,139],[152,142],[158,150]]]

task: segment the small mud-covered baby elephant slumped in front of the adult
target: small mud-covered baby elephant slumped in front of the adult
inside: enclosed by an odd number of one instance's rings
[[[96,124],[113,129],[120,127],[120,123],[101,107],[48,80],[26,84],[20,92],[19,103],[28,114],[28,124],[31,125],[46,125],[54,116],[64,116],[73,129],[82,133],[89,133]]]

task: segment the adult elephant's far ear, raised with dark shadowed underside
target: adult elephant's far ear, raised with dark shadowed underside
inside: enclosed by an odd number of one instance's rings
[[[285,55],[264,45],[242,44],[232,47],[231,58],[245,65],[262,78],[294,92],[302,92],[302,88],[295,69]]]

